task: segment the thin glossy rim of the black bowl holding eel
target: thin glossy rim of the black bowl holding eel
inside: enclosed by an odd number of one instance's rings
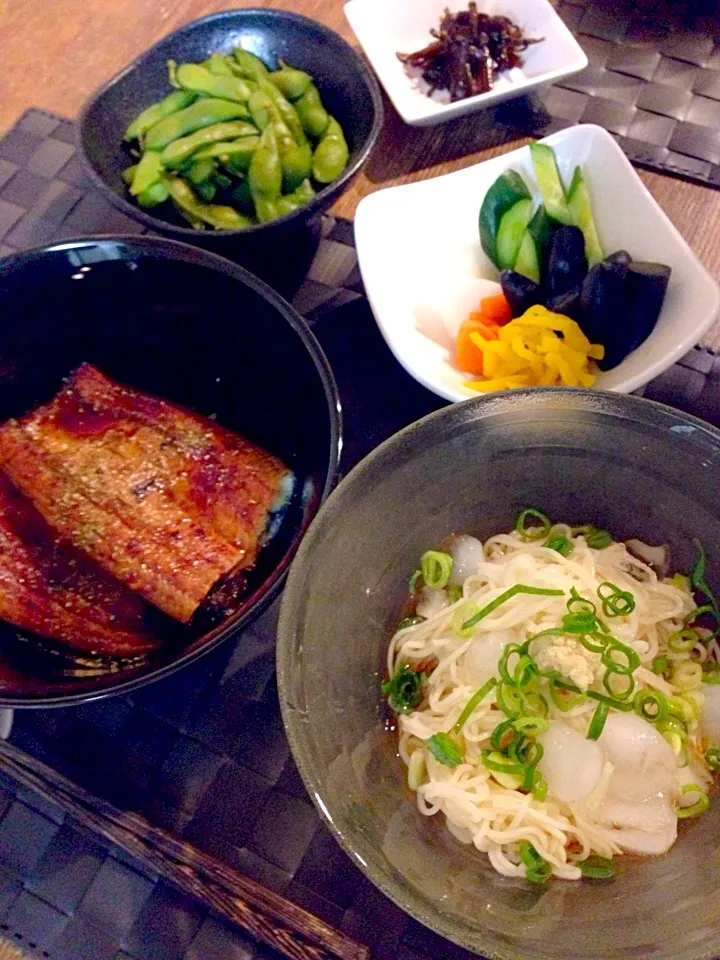
[[[5,272],[11,270],[15,265],[23,265],[25,261],[31,262],[33,259],[40,258],[43,255],[62,252],[64,250],[78,249],[81,247],[97,247],[103,243],[110,243],[115,246],[126,246],[128,248],[139,248],[141,253],[169,254],[170,260],[193,263],[223,273],[244,284],[246,287],[249,287],[254,293],[258,294],[266,302],[269,302],[289,324],[291,329],[299,337],[315,365],[328,407],[330,420],[328,469],[325,482],[320,491],[319,509],[332,490],[338,474],[343,435],[340,394],[335,381],[335,375],[330,366],[330,361],[327,359],[325,352],[320,346],[315,334],[310,329],[307,321],[304,320],[297,310],[281,297],[276,290],[273,290],[271,286],[265,283],[265,281],[260,280],[245,267],[241,267],[216,253],[211,253],[207,250],[202,250],[190,244],[181,243],[178,240],[172,240],[167,237],[134,234],[99,234],[91,237],[71,237],[66,240],[59,240],[54,243],[32,247],[29,250],[18,251],[7,257],[0,257],[0,280],[2,280]],[[0,693],[0,707],[32,709],[67,707],[80,703],[89,703],[94,700],[104,699],[105,697],[115,696],[116,694],[129,693],[132,690],[137,690],[146,684],[164,679],[182,667],[186,667],[196,660],[199,660],[200,657],[210,653],[211,650],[217,648],[225,640],[229,640],[231,637],[238,635],[267,609],[277,597],[283,587],[291,562],[313,519],[314,517],[310,517],[300,525],[285,555],[259,588],[260,595],[255,603],[244,612],[233,614],[213,630],[208,631],[205,641],[195,649],[186,651],[169,663],[163,664],[155,670],[150,670],[142,676],[130,677],[107,689],[36,697],[27,695],[13,696],[7,693]]]

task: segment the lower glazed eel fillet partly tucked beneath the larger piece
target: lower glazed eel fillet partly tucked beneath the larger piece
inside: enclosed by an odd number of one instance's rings
[[[131,657],[158,645],[148,609],[61,540],[0,473],[0,617],[77,650]]]

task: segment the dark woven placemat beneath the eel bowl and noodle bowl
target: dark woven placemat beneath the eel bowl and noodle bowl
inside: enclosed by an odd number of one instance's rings
[[[88,192],[72,139],[68,121],[31,110],[0,140],[0,253],[70,235],[138,231]],[[295,298],[336,372],[344,469],[441,405],[385,347],[352,244],[352,225],[328,218]],[[720,423],[720,360],[693,350],[645,392]],[[378,960],[466,960],[379,893],[321,824],[280,720],[276,616],[271,609],[236,643],[132,696],[19,712],[12,740],[326,918],[370,945]],[[274,960],[0,776],[3,935],[53,960]]]

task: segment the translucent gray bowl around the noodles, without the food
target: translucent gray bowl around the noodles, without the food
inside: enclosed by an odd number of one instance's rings
[[[720,797],[667,856],[626,860],[609,883],[506,879],[417,811],[379,694],[408,574],[445,534],[485,538],[536,505],[619,538],[667,542],[679,569],[701,537],[717,576],[718,490],[720,431],[635,397],[545,389],[431,414],[330,497],[285,589],[283,714],[321,813],[408,913],[503,960],[720,955]]]

